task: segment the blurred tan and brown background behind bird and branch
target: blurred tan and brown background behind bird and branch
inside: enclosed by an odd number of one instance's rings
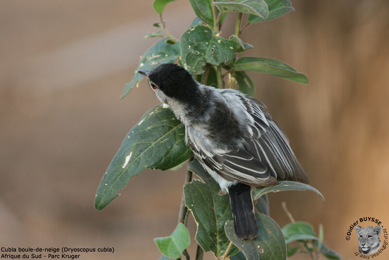
[[[316,230],[323,224],[329,248],[354,259],[354,234],[345,240],[350,223],[372,216],[389,225],[389,2],[292,2],[296,12],[251,25],[242,38],[255,46],[245,55],[277,58],[308,75],[305,86],[250,74],[255,97],[326,200],[271,194],[271,216],[288,223],[285,201],[296,220]],[[159,258],[153,238],[177,224],[183,168],[145,170],[104,210],[93,208],[125,134],[158,104],[144,81],[119,100],[139,56],[157,40],[142,40],[157,30],[151,3],[0,0],[1,246],[114,246],[114,254],[82,259]],[[179,37],[195,14],[178,0],[164,18]],[[234,18],[223,35],[233,32]],[[189,228],[193,237],[192,218]]]

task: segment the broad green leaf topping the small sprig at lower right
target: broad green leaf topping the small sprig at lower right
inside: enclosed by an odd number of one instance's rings
[[[283,227],[286,243],[296,240],[318,240],[312,225],[306,222],[289,223]]]

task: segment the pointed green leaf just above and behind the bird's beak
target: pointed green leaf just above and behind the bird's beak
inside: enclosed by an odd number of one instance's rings
[[[180,55],[179,42],[169,44],[166,42],[168,39],[169,37],[159,40],[141,56],[138,68],[134,72],[131,82],[125,85],[124,92],[120,98],[124,98],[134,85],[141,81],[143,76],[138,73],[139,70],[151,71],[160,63],[172,63],[176,61]]]

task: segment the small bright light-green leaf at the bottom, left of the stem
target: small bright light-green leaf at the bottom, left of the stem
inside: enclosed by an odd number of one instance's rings
[[[178,223],[170,237],[155,238],[159,251],[169,258],[181,257],[182,251],[191,244],[188,228],[183,223]]]

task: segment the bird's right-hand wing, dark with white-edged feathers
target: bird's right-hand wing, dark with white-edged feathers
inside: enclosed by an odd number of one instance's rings
[[[265,111],[265,106],[247,96],[242,96],[242,102],[254,118],[253,131],[259,133],[258,137],[254,133],[245,149],[265,164],[275,178],[308,183],[308,177],[290,148],[285,133]],[[264,125],[267,128],[264,129]]]

